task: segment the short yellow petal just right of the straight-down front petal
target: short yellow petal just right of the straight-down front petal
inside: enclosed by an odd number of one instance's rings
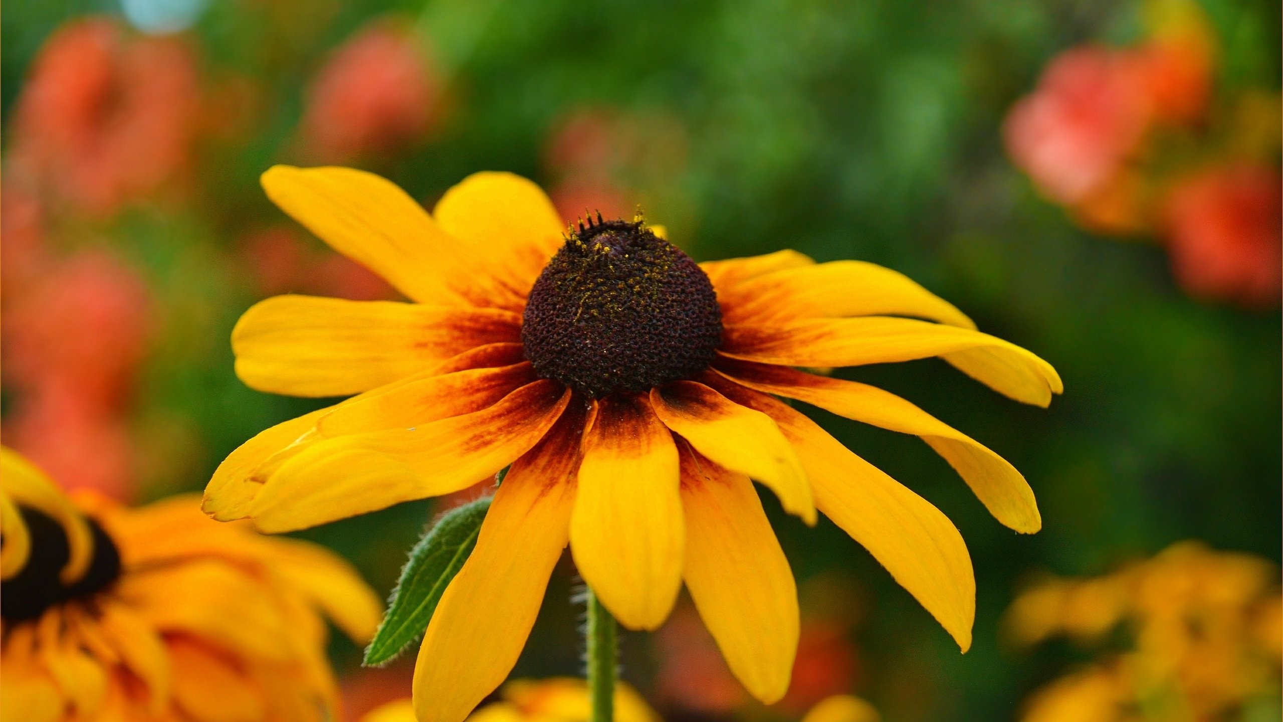
[[[674,433],[722,466],[762,482],[784,510],[815,524],[806,470],[770,416],[745,409],[697,382],[650,391],[650,403]]]

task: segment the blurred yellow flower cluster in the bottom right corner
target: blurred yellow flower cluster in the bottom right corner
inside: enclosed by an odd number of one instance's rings
[[[1015,642],[1102,642],[1119,628],[1129,642],[1034,692],[1023,721],[1237,719],[1278,699],[1280,612],[1274,564],[1198,542],[1103,577],[1043,581],[1007,612]]]

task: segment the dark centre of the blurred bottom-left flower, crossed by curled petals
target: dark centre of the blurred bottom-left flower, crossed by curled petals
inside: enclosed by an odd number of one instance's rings
[[[4,582],[0,617],[6,623],[36,619],[55,604],[92,596],[121,576],[121,554],[115,543],[98,522],[87,519],[94,534],[94,558],[83,577],[64,585],[59,574],[71,559],[71,547],[63,525],[53,516],[27,506],[19,505],[18,513],[31,534],[31,554],[26,567]]]

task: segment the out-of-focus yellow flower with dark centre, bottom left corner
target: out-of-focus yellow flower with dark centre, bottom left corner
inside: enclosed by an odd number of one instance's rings
[[[322,613],[362,641],[378,623],[321,547],[217,524],[191,496],[73,502],[8,448],[0,529],[4,722],[332,718]]]

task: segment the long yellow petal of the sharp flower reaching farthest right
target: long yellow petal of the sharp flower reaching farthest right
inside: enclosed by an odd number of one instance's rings
[[[781,366],[860,366],[939,356],[975,380],[1016,401],[1047,406],[1065,391],[1051,364],[980,331],[869,316],[774,325],[729,325],[722,352]]]

